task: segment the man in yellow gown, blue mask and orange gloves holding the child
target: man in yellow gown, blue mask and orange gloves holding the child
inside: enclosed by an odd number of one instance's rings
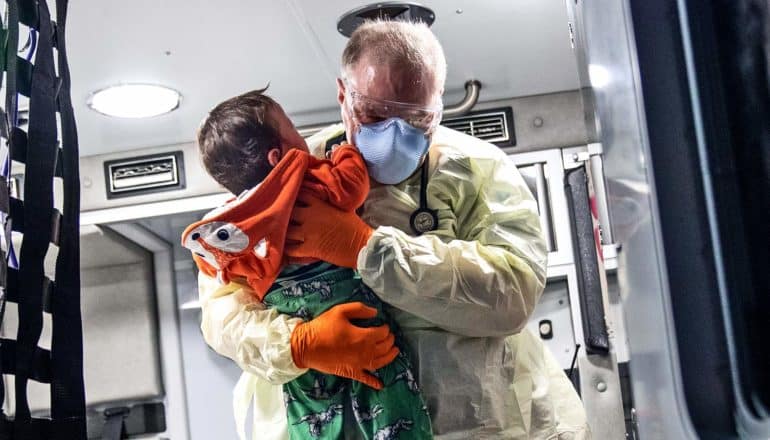
[[[344,132],[367,161],[372,190],[360,219],[305,200],[293,214],[288,252],[357,268],[392,306],[436,438],[589,438],[571,384],[539,338],[523,330],[545,283],[535,202],[498,148],[436,128],[445,78],[443,51],[427,26],[369,22],[354,32],[337,84],[344,127],[329,127],[308,145],[322,154]],[[417,210],[428,211],[415,215],[415,226],[434,229],[417,235],[410,222]],[[212,295],[211,283],[201,279],[206,340],[255,374],[248,386],[261,390],[261,418],[280,424],[278,410],[264,411],[267,395],[279,394],[263,381],[280,384],[305,371],[293,357],[307,359],[300,352],[314,342],[294,330],[334,322],[349,333],[355,326],[334,309],[317,318],[323,322],[301,323],[243,305],[242,286]],[[344,351],[342,339],[327,335],[323,345]],[[370,370],[371,360],[354,354],[337,367]]]

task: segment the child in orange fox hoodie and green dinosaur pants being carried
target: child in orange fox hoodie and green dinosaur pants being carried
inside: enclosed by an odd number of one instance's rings
[[[224,101],[203,122],[198,145],[206,170],[240,195],[190,225],[182,244],[201,271],[223,283],[244,279],[258,300],[281,313],[310,320],[332,306],[358,301],[378,314],[357,325],[393,328],[354,270],[322,261],[287,264],[286,228],[298,195],[353,211],[366,199],[369,177],[353,146],[337,148],[331,160],[310,156],[283,109],[263,92]],[[384,385],[381,391],[315,370],[284,384],[290,437],[342,438],[347,407],[367,440],[432,438],[411,363],[396,345],[401,354],[373,373]]]

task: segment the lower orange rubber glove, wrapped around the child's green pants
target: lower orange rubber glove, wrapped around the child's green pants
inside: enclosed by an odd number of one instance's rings
[[[363,303],[334,306],[315,319],[301,323],[291,334],[291,355],[300,368],[347,377],[381,390],[374,371],[398,355],[395,337],[387,325],[358,327],[351,319],[374,318],[377,310]]]

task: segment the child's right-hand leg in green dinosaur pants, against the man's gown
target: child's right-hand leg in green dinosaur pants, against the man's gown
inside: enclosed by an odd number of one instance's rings
[[[366,440],[425,440],[433,438],[428,408],[402,352],[376,371],[385,387],[381,391],[352,381],[350,401]]]

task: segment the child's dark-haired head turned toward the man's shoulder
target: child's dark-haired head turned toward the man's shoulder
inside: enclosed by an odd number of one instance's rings
[[[307,151],[305,139],[265,90],[220,103],[198,129],[206,171],[236,195],[264,180],[288,150]]]

